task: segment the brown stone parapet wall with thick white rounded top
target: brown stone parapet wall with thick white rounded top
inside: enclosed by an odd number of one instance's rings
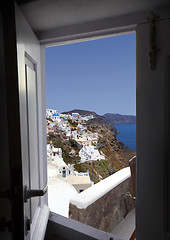
[[[130,168],[125,168],[70,201],[69,217],[110,232],[134,208]]]

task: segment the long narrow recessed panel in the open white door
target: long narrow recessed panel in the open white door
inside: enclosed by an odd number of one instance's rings
[[[27,61],[28,62],[28,59]],[[32,62],[31,62],[32,63]],[[29,188],[39,189],[39,148],[38,148],[38,112],[37,112],[37,84],[36,68],[26,65],[26,96],[28,113],[28,147],[29,147]],[[31,222],[39,204],[39,197],[30,199]]]

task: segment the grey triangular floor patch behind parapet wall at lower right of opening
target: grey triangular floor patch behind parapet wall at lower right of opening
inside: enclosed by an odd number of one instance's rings
[[[125,219],[120,222],[111,233],[120,237],[122,240],[128,240],[135,230],[135,209],[131,210]]]

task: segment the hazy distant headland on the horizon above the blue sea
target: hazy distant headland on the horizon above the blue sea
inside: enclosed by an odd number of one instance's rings
[[[111,124],[134,124],[136,116],[106,113],[103,117]]]

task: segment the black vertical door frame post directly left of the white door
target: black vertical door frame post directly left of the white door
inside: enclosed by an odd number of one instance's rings
[[[9,161],[10,181],[10,227],[12,239],[24,239],[24,208],[23,208],[23,180],[22,156],[19,113],[19,88],[17,67],[17,45],[15,25],[15,5],[13,1],[6,1],[2,9],[2,23],[4,36],[4,78],[6,93],[6,119],[7,119],[7,149]],[[9,70],[10,69],[10,70]],[[18,217],[19,216],[19,217]]]

